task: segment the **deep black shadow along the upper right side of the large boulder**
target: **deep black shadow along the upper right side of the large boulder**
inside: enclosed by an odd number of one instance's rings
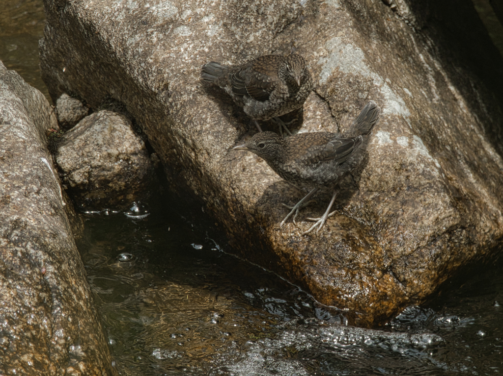
[[[491,41],[472,0],[409,3],[411,26],[420,29],[432,45],[442,68],[449,74],[470,108],[484,119],[493,113],[496,123],[481,121],[487,140],[503,157],[503,110],[490,105],[494,98],[503,103],[503,57]],[[485,87],[484,87],[485,86]],[[487,92],[490,91],[490,93]]]

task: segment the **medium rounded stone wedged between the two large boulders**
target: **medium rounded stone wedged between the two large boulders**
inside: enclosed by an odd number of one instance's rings
[[[146,190],[152,162],[131,127],[125,115],[103,110],[64,134],[56,163],[78,207],[118,208]]]

